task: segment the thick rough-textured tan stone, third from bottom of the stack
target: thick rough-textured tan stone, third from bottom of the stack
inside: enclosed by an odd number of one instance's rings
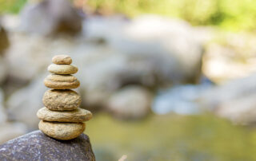
[[[43,95],[42,103],[50,110],[74,110],[81,104],[81,96],[70,89],[49,89]]]

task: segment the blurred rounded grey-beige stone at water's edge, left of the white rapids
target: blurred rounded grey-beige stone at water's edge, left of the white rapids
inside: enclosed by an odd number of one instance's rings
[[[150,112],[152,94],[139,86],[127,86],[115,92],[107,100],[107,109],[123,119],[139,119]]]

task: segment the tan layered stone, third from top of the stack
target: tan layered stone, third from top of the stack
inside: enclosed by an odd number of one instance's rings
[[[44,84],[48,88],[54,89],[69,89],[78,88],[80,82],[78,79],[72,75],[56,75],[50,74],[46,77]]]

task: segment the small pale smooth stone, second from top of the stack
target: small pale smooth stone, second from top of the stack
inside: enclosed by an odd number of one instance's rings
[[[78,72],[78,68],[74,65],[55,65],[48,66],[48,71],[54,74],[74,74]]]

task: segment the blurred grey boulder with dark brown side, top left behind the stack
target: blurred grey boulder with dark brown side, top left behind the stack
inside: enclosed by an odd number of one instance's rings
[[[82,17],[66,0],[43,0],[28,4],[22,10],[21,22],[26,33],[39,35],[75,34],[82,29]]]

